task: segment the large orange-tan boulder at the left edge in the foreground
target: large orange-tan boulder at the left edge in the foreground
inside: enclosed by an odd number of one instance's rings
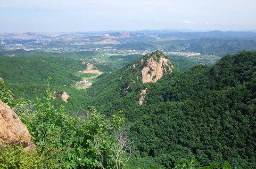
[[[20,140],[22,138],[22,140]],[[33,151],[29,131],[12,109],[0,100],[0,144],[19,145],[21,142],[25,150]]]

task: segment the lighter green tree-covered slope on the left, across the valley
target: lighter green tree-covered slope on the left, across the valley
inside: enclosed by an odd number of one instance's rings
[[[68,58],[51,58],[42,56],[8,57],[0,56],[1,78],[7,81],[8,88],[16,98],[35,100],[42,98],[46,87],[47,77],[52,77],[52,91],[56,91],[57,98],[52,100],[56,106],[64,105],[69,112],[83,109],[84,91],[78,91],[73,86],[83,80],[77,74],[79,70],[85,70],[87,64]],[[58,94],[66,92],[70,98],[64,102]]]

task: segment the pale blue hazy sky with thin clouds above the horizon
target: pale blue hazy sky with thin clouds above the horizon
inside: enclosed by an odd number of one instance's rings
[[[0,0],[0,32],[256,30],[256,0]]]

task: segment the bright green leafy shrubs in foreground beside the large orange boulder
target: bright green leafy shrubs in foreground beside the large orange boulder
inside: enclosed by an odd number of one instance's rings
[[[113,132],[124,124],[122,111],[111,119],[98,114],[93,107],[89,108],[91,114],[83,119],[66,115],[63,106],[58,112],[50,104],[50,80],[49,77],[45,102],[37,98],[35,113],[20,115],[34,140],[43,167],[97,169],[103,166],[108,169],[115,166],[109,147],[116,144]],[[104,158],[99,158],[99,154]]]

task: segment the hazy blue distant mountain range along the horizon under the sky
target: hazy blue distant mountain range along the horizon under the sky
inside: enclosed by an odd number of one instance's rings
[[[256,32],[253,31],[192,31],[181,30],[141,30],[141,31],[91,31],[91,32],[69,32],[69,33],[0,33],[0,39],[59,39],[59,38],[82,38],[84,36],[103,36],[104,34],[118,36],[126,34],[120,38],[130,36],[152,35],[157,38],[221,38],[221,39],[256,39]],[[110,36],[111,37],[111,36]]]

